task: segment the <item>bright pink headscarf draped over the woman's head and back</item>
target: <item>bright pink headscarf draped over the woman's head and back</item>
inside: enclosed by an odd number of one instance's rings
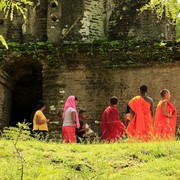
[[[63,112],[63,118],[64,118],[64,115],[65,115],[65,112],[66,110],[69,108],[69,107],[72,107],[76,110],[76,103],[75,103],[75,96],[69,96],[66,100],[66,103],[64,105],[64,112]],[[80,123],[79,123],[79,117],[78,117],[78,113],[77,113],[77,110],[76,110],[76,127],[79,128],[80,127]]]

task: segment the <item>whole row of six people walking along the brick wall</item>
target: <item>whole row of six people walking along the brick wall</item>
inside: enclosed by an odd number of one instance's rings
[[[161,100],[157,105],[155,116],[153,100],[147,96],[148,87],[140,87],[140,95],[134,97],[127,105],[124,123],[118,112],[118,98],[113,96],[100,122],[100,138],[105,142],[119,141],[123,135],[135,141],[173,140],[176,132],[176,108],[170,103],[170,91],[160,92]],[[66,143],[83,140],[93,133],[84,122],[85,111],[76,109],[77,97],[69,96],[63,110],[62,137]],[[33,130],[43,137],[48,131],[49,119],[43,114],[46,104],[41,101],[33,114]]]

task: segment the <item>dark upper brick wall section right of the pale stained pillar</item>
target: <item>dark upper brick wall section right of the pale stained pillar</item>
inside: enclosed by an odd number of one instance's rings
[[[152,11],[138,11],[148,0],[115,0],[115,8],[109,20],[110,39],[175,40],[175,26],[164,16],[160,21]]]

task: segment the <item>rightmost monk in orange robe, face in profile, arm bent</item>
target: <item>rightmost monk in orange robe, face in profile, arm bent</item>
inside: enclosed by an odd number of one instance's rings
[[[173,140],[176,132],[176,108],[169,102],[169,90],[163,89],[160,94],[162,100],[156,108],[153,135],[156,140]]]

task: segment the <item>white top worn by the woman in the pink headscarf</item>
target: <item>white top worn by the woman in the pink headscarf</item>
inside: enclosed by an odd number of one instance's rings
[[[72,107],[69,107],[64,115],[63,126],[75,126],[75,123],[72,120],[72,112],[76,112],[76,110]]]

